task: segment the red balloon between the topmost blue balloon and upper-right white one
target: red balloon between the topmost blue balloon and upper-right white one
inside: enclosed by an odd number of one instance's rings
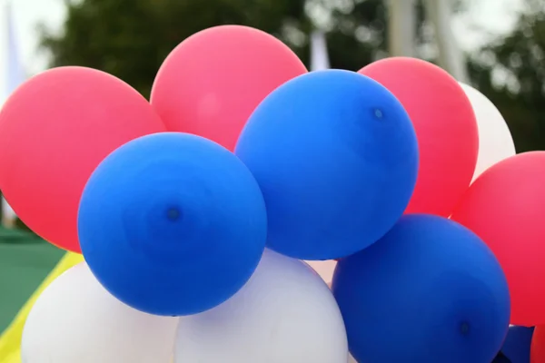
[[[360,73],[401,101],[416,130],[420,169],[406,212],[450,216],[470,185],[479,151],[470,100],[450,74],[418,59],[382,59]]]

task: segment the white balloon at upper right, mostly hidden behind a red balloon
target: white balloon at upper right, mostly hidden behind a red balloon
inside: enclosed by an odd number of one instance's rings
[[[515,143],[500,111],[471,85],[460,83],[470,99],[479,128],[479,156],[473,181],[497,162],[516,154]]]

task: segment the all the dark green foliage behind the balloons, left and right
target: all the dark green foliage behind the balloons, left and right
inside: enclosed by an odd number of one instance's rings
[[[525,1],[512,34],[470,62],[473,83],[500,108],[519,152],[545,149],[545,3]],[[464,1],[457,5],[463,11]],[[388,49],[383,0],[77,0],[67,6],[64,31],[44,34],[52,65],[101,69],[145,96],[165,56],[214,25],[249,25],[274,34],[307,65],[308,34],[316,25],[327,30],[333,68],[357,70]],[[417,43],[423,44],[429,39],[421,4],[417,15]]]

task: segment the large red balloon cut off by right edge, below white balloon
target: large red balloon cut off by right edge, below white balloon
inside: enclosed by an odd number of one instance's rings
[[[452,213],[494,252],[509,282],[510,322],[545,324],[545,152],[493,165],[473,182]]]

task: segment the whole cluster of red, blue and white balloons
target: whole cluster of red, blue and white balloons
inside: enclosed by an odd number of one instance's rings
[[[175,48],[149,103],[39,74],[0,113],[0,189],[85,263],[37,300],[23,362],[528,361],[497,355],[545,325],[544,165],[433,64],[308,73],[243,26]],[[332,288],[302,260],[338,260]]]

